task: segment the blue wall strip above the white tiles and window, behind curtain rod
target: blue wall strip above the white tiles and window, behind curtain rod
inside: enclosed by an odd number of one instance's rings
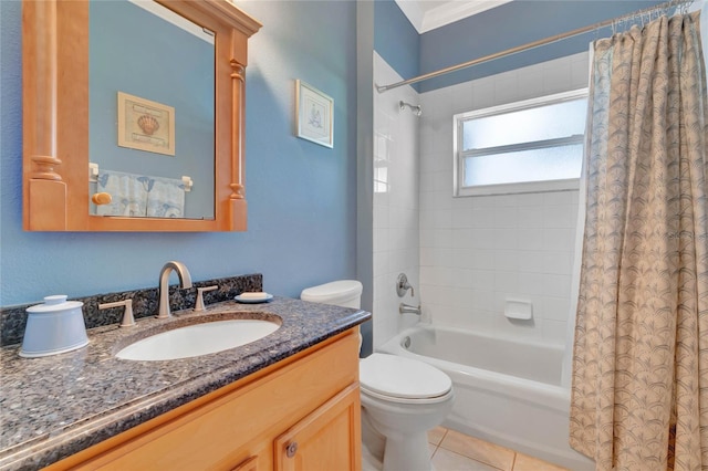
[[[514,0],[420,35],[420,74],[642,10],[663,0]],[[591,41],[612,29],[586,33],[509,55],[420,83],[419,91],[441,88],[488,75],[587,51]],[[409,76],[404,75],[409,78]]]

